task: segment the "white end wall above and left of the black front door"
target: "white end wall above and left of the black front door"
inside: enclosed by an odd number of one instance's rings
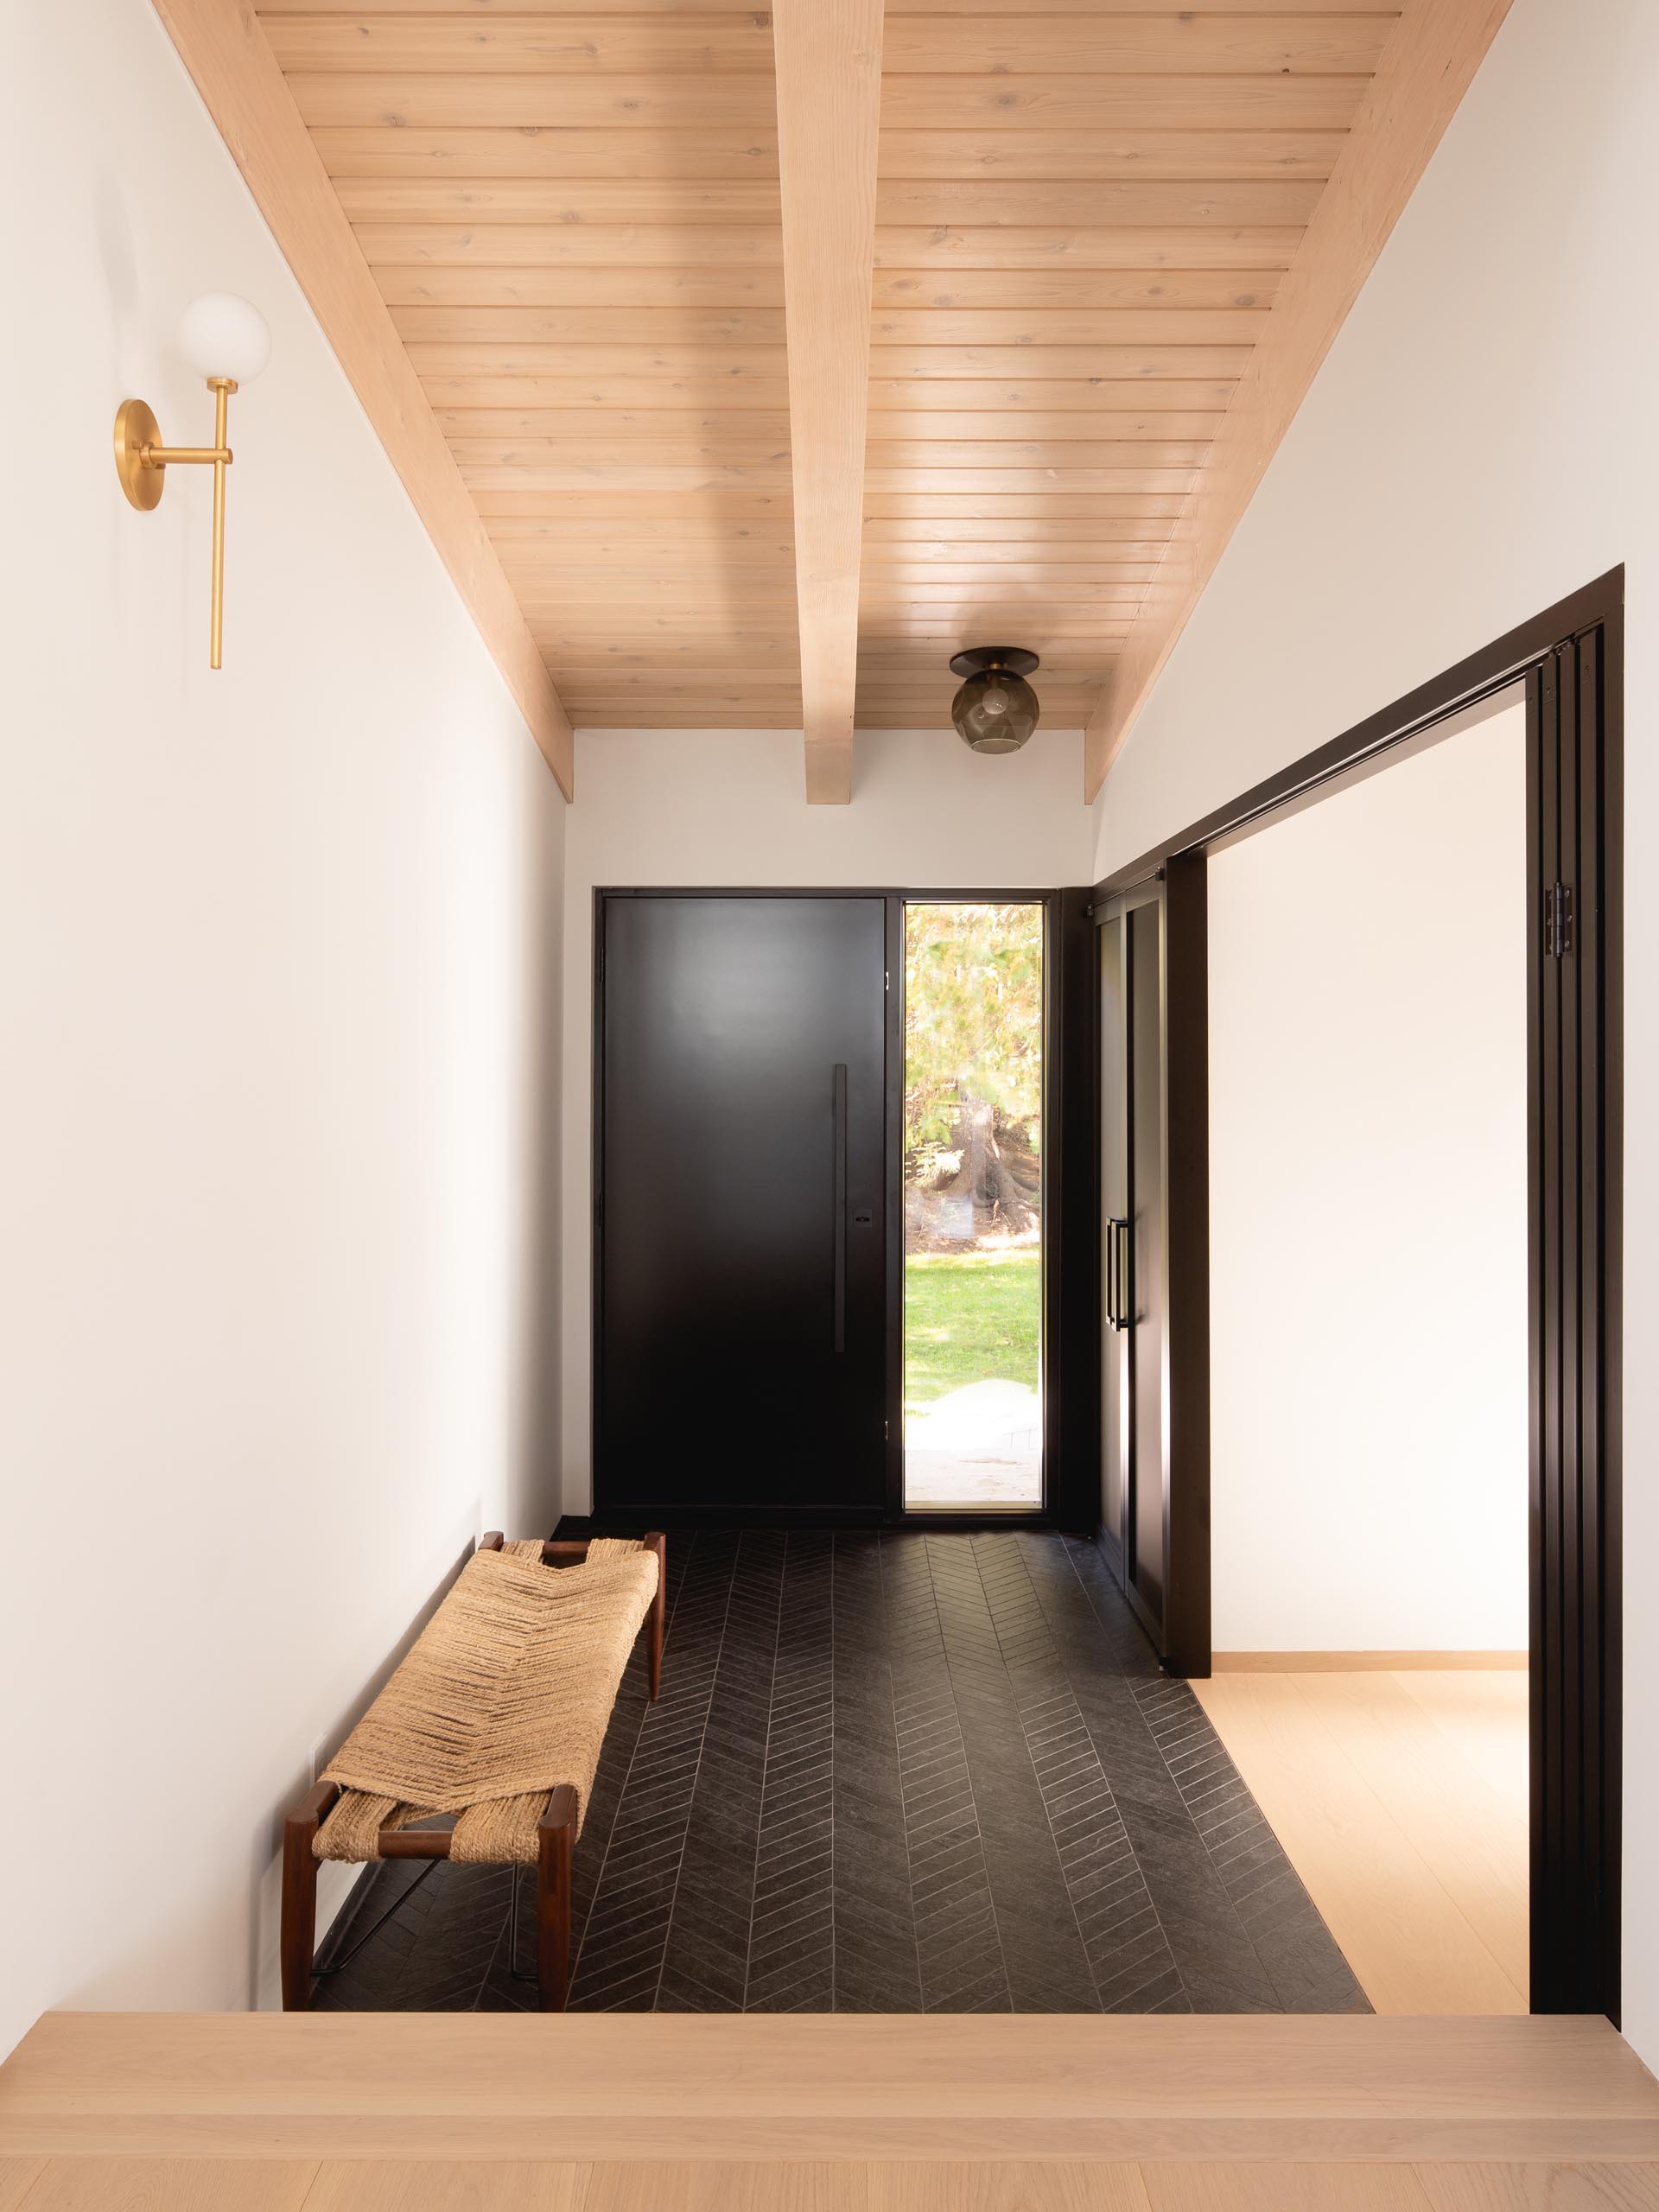
[[[1057,889],[1088,880],[1082,734],[980,759],[951,730],[860,732],[849,807],[803,805],[799,730],[584,730],[564,900],[564,1511],[593,1478],[597,885]]]

